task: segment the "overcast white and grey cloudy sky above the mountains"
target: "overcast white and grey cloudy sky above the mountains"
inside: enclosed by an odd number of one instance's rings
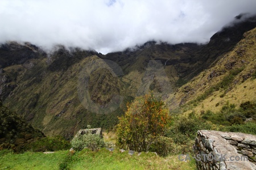
[[[208,42],[255,0],[0,0],[0,42],[108,53],[149,40]]]

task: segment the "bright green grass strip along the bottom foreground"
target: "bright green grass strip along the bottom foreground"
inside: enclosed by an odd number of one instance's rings
[[[181,162],[178,156],[163,158],[151,152],[139,156],[135,152],[130,156],[127,151],[110,152],[106,148],[98,152],[85,149],[75,154],[69,151],[54,154],[8,152],[0,154],[0,169],[196,169],[194,160]]]

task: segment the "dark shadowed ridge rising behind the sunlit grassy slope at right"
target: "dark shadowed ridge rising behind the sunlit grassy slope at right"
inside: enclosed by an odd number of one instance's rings
[[[218,59],[224,57],[243,38],[243,33],[256,27],[256,16],[241,14],[236,16],[232,23],[229,23],[221,31],[215,33],[208,44],[204,45],[195,53],[200,62],[197,62],[197,69],[189,75],[189,78],[207,69],[210,65],[216,64]]]

